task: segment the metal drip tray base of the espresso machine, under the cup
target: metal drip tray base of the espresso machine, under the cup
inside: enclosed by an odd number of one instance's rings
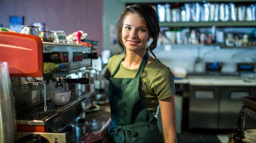
[[[58,133],[65,128],[66,124],[85,112],[87,106],[91,107],[92,95],[93,92],[72,91],[70,101],[66,105],[55,105],[49,100],[46,104],[46,112],[44,112],[44,103],[17,112],[18,129],[19,125],[45,126],[45,132]],[[51,129],[48,129],[49,127]]]

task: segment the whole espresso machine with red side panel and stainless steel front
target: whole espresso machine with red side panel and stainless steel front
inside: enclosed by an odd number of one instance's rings
[[[92,45],[42,42],[33,35],[0,32],[0,53],[0,61],[9,66],[18,132],[61,133],[91,108],[93,92],[71,90],[65,105],[55,105],[49,92],[66,89],[67,83],[89,82],[68,75],[92,66]]]

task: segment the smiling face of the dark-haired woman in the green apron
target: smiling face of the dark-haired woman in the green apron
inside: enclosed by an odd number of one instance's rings
[[[126,16],[123,21],[122,40],[126,51],[144,52],[149,40],[149,30],[141,17],[136,14]]]

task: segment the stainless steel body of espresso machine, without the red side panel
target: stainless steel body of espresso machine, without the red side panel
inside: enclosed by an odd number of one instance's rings
[[[43,76],[11,77],[18,132],[60,133],[91,107],[91,91],[71,91],[66,105],[55,105],[50,100],[49,92],[66,88],[68,75],[77,73],[81,67],[92,65],[92,48],[75,44],[42,43]]]

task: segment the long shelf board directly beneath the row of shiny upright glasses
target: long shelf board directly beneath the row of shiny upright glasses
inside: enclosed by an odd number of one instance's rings
[[[256,21],[217,21],[217,22],[159,22],[160,26],[170,27],[256,27]]]

